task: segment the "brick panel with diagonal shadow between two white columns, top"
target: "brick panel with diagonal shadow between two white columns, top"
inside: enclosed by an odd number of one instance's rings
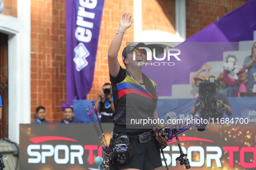
[[[142,30],[175,34],[175,0],[142,0]]]

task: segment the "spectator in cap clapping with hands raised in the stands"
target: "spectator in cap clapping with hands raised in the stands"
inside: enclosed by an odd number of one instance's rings
[[[203,79],[205,78],[203,75],[199,75],[199,74],[204,70],[205,70],[206,78],[209,78],[209,71],[211,70],[211,66],[207,65],[207,63],[204,63],[203,66],[201,66],[201,69],[195,72],[194,75],[192,76],[192,79],[191,79],[192,90],[190,93],[190,98],[196,98],[199,96],[199,93],[198,93],[199,83],[203,82]]]

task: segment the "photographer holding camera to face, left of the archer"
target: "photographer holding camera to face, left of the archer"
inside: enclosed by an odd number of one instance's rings
[[[99,97],[95,102],[97,111],[101,114],[101,123],[113,123],[113,114],[115,111],[112,96],[112,87],[110,83],[105,83],[102,90],[98,92]]]

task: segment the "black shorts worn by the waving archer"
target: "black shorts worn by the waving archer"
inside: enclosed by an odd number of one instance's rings
[[[124,127],[124,128],[123,128]],[[149,132],[150,129],[125,129],[123,126],[114,126],[114,132],[117,134],[138,135],[143,132]],[[162,167],[162,160],[160,155],[160,149],[156,146],[155,136],[151,136],[151,139],[146,143],[139,143],[139,141],[130,141],[130,145],[133,147],[133,158],[129,164],[117,164],[114,161],[114,167],[116,170],[123,168],[133,168],[139,170],[151,170],[157,167]]]

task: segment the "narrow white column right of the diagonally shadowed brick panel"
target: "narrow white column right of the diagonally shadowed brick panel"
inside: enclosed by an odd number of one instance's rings
[[[175,1],[176,34],[186,39],[186,0]]]

